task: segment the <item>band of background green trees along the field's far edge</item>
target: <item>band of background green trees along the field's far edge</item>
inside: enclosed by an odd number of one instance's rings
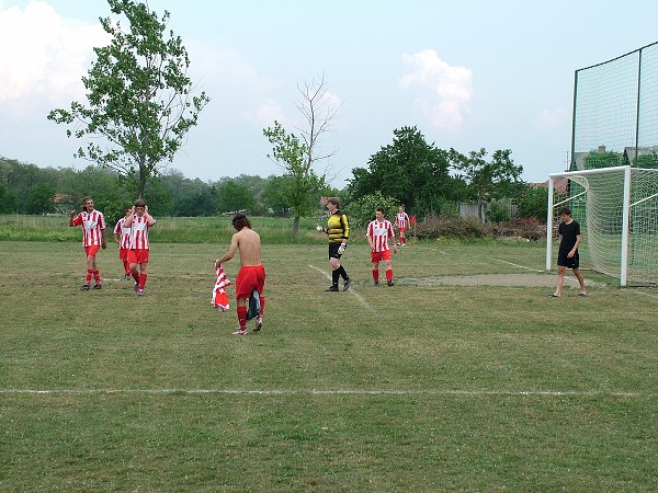
[[[393,144],[384,146],[354,168],[344,190],[324,187],[309,197],[334,195],[356,223],[372,218],[376,204],[395,213],[404,205],[409,213],[438,217],[454,215],[461,202],[485,200],[517,204],[519,215],[546,218],[546,190],[521,180],[523,168],[514,164],[511,150],[488,154],[485,149],[463,154],[428,144],[416,127],[394,130]],[[136,198],[125,176],[106,168],[38,168],[0,158],[0,213],[49,214],[77,208],[87,195],[109,217],[121,217]],[[158,216],[215,216],[235,210],[252,215],[287,217],[291,214],[291,175],[268,177],[241,174],[216,182],[188,179],[169,170],[151,179],[144,196]],[[319,206],[318,206],[319,208]],[[492,208],[492,214],[500,208]],[[504,220],[504,215],[494,218]]]

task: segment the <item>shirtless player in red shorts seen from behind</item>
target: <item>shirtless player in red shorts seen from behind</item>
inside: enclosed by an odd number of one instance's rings
[[[234,335],[247,335],[247,300],[258,293],[260,301],[260,312],[256,319],[254,332],[263,326],[263,312],[265,310],[265,298],[263,289],[265,287],[265,268],[261,263],[261,242],[260,236],[251,229],[251,221],[242,213],[234,216],[234,228],[238,231],[230,240],[228,251],[215,261],[215,268],[224,262],[232,259],[236,250],[240,252],[240,271],[236,278],[236,301],[239,326]]]

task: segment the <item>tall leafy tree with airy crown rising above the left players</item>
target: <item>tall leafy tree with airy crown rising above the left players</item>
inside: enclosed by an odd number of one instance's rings
[[[173,161],[209,99],[205,92],[193,95],[181,38],[173,31],[164,38],[168,11],[159,20],[145,3],[107,2],[113,13],[127,18],[129,32],[118,21],[101,19],[112,41],[94,48],[98,59],[82,78],[89,105],[72,102],[70,110],[53,110],[48,119],[73,125],[68,137],[91,137],[73,156],[128,177],[143,198],[148,180],[163,161]]]

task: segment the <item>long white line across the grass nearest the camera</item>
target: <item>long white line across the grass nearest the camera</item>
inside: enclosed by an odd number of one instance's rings
[[[615,398],[655,398],[656,392],[627,392],[603,390],[318,390],[318,389],[0,389],[3,394],[146,394],[164,395],[180,393],[194,394],[226,394],[226,395],[511,395],[511,397],[615,397]]]

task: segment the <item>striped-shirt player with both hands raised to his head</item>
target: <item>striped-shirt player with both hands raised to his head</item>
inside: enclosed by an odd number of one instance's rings
[[[135,291],[138,296],[144,296],[144,286],[146,285],[148,265],[148,254],[150,243],[148,241],[148,230],[156,223],[156,220],[148,214],[148,206],[138,198],[124,218],[124,227],[129,228],[128,263],[131,274],[135,279]],[[139,266],[139,271],[137,271]]]

